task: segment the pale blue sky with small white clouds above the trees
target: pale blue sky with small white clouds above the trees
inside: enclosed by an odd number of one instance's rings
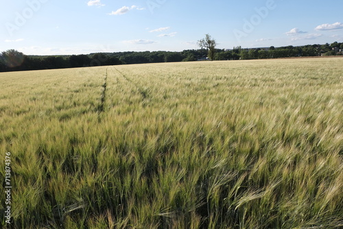
[[[343,42],[339,0],[0,0],[0,51],[58,55]]]

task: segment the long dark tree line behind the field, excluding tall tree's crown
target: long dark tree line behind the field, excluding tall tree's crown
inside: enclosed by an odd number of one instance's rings
[[[10,49],[0,53],[0,72],[27,71],[41,69],[66,69],[75,67],[95,67],[117,64],[143,64],[158,62],[181,62],[196,60],[252,60],[268,58],[289,58],[300,56],[343,55],[343,43],[325,45],[305,45],[301,47],[268,47],[259,49],[213,49],[209,58],[206,49],[184,51],[126,51],[116,53],[91,53],[71,56],[26,56]]]

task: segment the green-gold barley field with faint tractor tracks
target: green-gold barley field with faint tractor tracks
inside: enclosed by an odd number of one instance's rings
[[[316,58],[0,73],[7,227],[343,228],[342,66]],[[0,202],[5,228],[4,194]]]

